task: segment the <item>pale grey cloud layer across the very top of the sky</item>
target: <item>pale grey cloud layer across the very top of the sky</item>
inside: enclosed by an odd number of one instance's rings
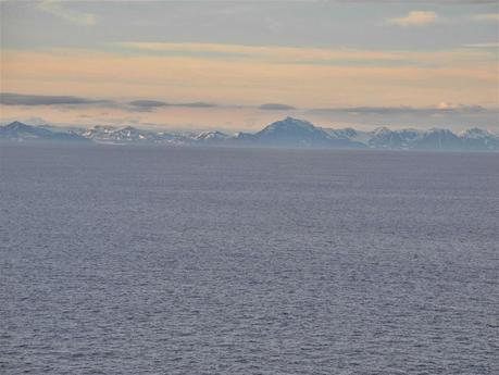
[[[10,30],[2,39],[2,47],[15,49],[95,48],[96,36],[103,43],[167,39],[247,46],[447,49],[456,47],[457,41],[486,42],[497,34],[490,25],[464,22],[440,23],[432,26],[439,30],[428,28],[394,37],[385,23],[386,18],[410,11],[434,11],[442,18],[466,20],[473,14],[497,12],[494,0],[199,1],[196,4],[128,1],[126,7],[121,1],[51,1],[41,8],[38,1],[1,3],[3,26]]]

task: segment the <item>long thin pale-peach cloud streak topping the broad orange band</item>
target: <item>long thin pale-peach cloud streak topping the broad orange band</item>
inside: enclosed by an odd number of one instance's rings
[[[350,48],[309,48],[277,46],[244,46],[224,43],[190,43],[190,42],[115,42],[115,55],[132,51],[134,58],[169,59],[171,62],[180,59],[212,61],[214,63],[252,64],[286,64],[286,65],[323,65],[323,66],[449,66],[471,59],[483,62],[488,55],[477,51],[459,49],[425,51],[425,50],[369,50]],[[117,53],[116,53],[117,52]],[[152,54],[151,54],[152,53]],[[144,73],[141,73],[144,74]]]

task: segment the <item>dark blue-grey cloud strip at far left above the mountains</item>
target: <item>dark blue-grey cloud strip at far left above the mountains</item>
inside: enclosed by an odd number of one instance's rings
[[[0,92],[0,104],[3,105],[82,105],[113,104],[110,100],[95,100],[72,96],[23,95]]]

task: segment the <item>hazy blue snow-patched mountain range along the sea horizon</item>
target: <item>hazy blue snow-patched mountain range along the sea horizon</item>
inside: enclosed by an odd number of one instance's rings
[[[286,117],[257,133],[228,135],[222,132],[165,133],[138,129],[132,126],[97,125],[87,129],[54,129],[13,122],[0,127],[0,139],[11,141],[72,141],[121,145],[283,147],[325,149],[381,150],[470,150],[498,151],[499,136],[473,127],[454,134],[448,129],[391,130],[379,127],[373,132],[353,128],[322,128],[310,122]]]

